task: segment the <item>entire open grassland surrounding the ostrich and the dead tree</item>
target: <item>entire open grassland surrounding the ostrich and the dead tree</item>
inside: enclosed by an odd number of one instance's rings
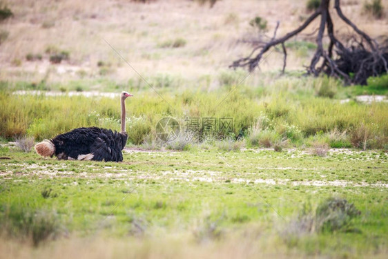
[[[276,21],[300,26],[307,1],[142,2],[0,1],[0,258],[387,258],[388,75],[305,75],[318,20],[287,42],[284,74],[280,49],[228,68]],[[388,35],[386,1],[381,19],[341,3]],[[33,152],[81,126],[119,131],[122,90],[123,162]],[[158,137],[164,117],[175,140]]]

